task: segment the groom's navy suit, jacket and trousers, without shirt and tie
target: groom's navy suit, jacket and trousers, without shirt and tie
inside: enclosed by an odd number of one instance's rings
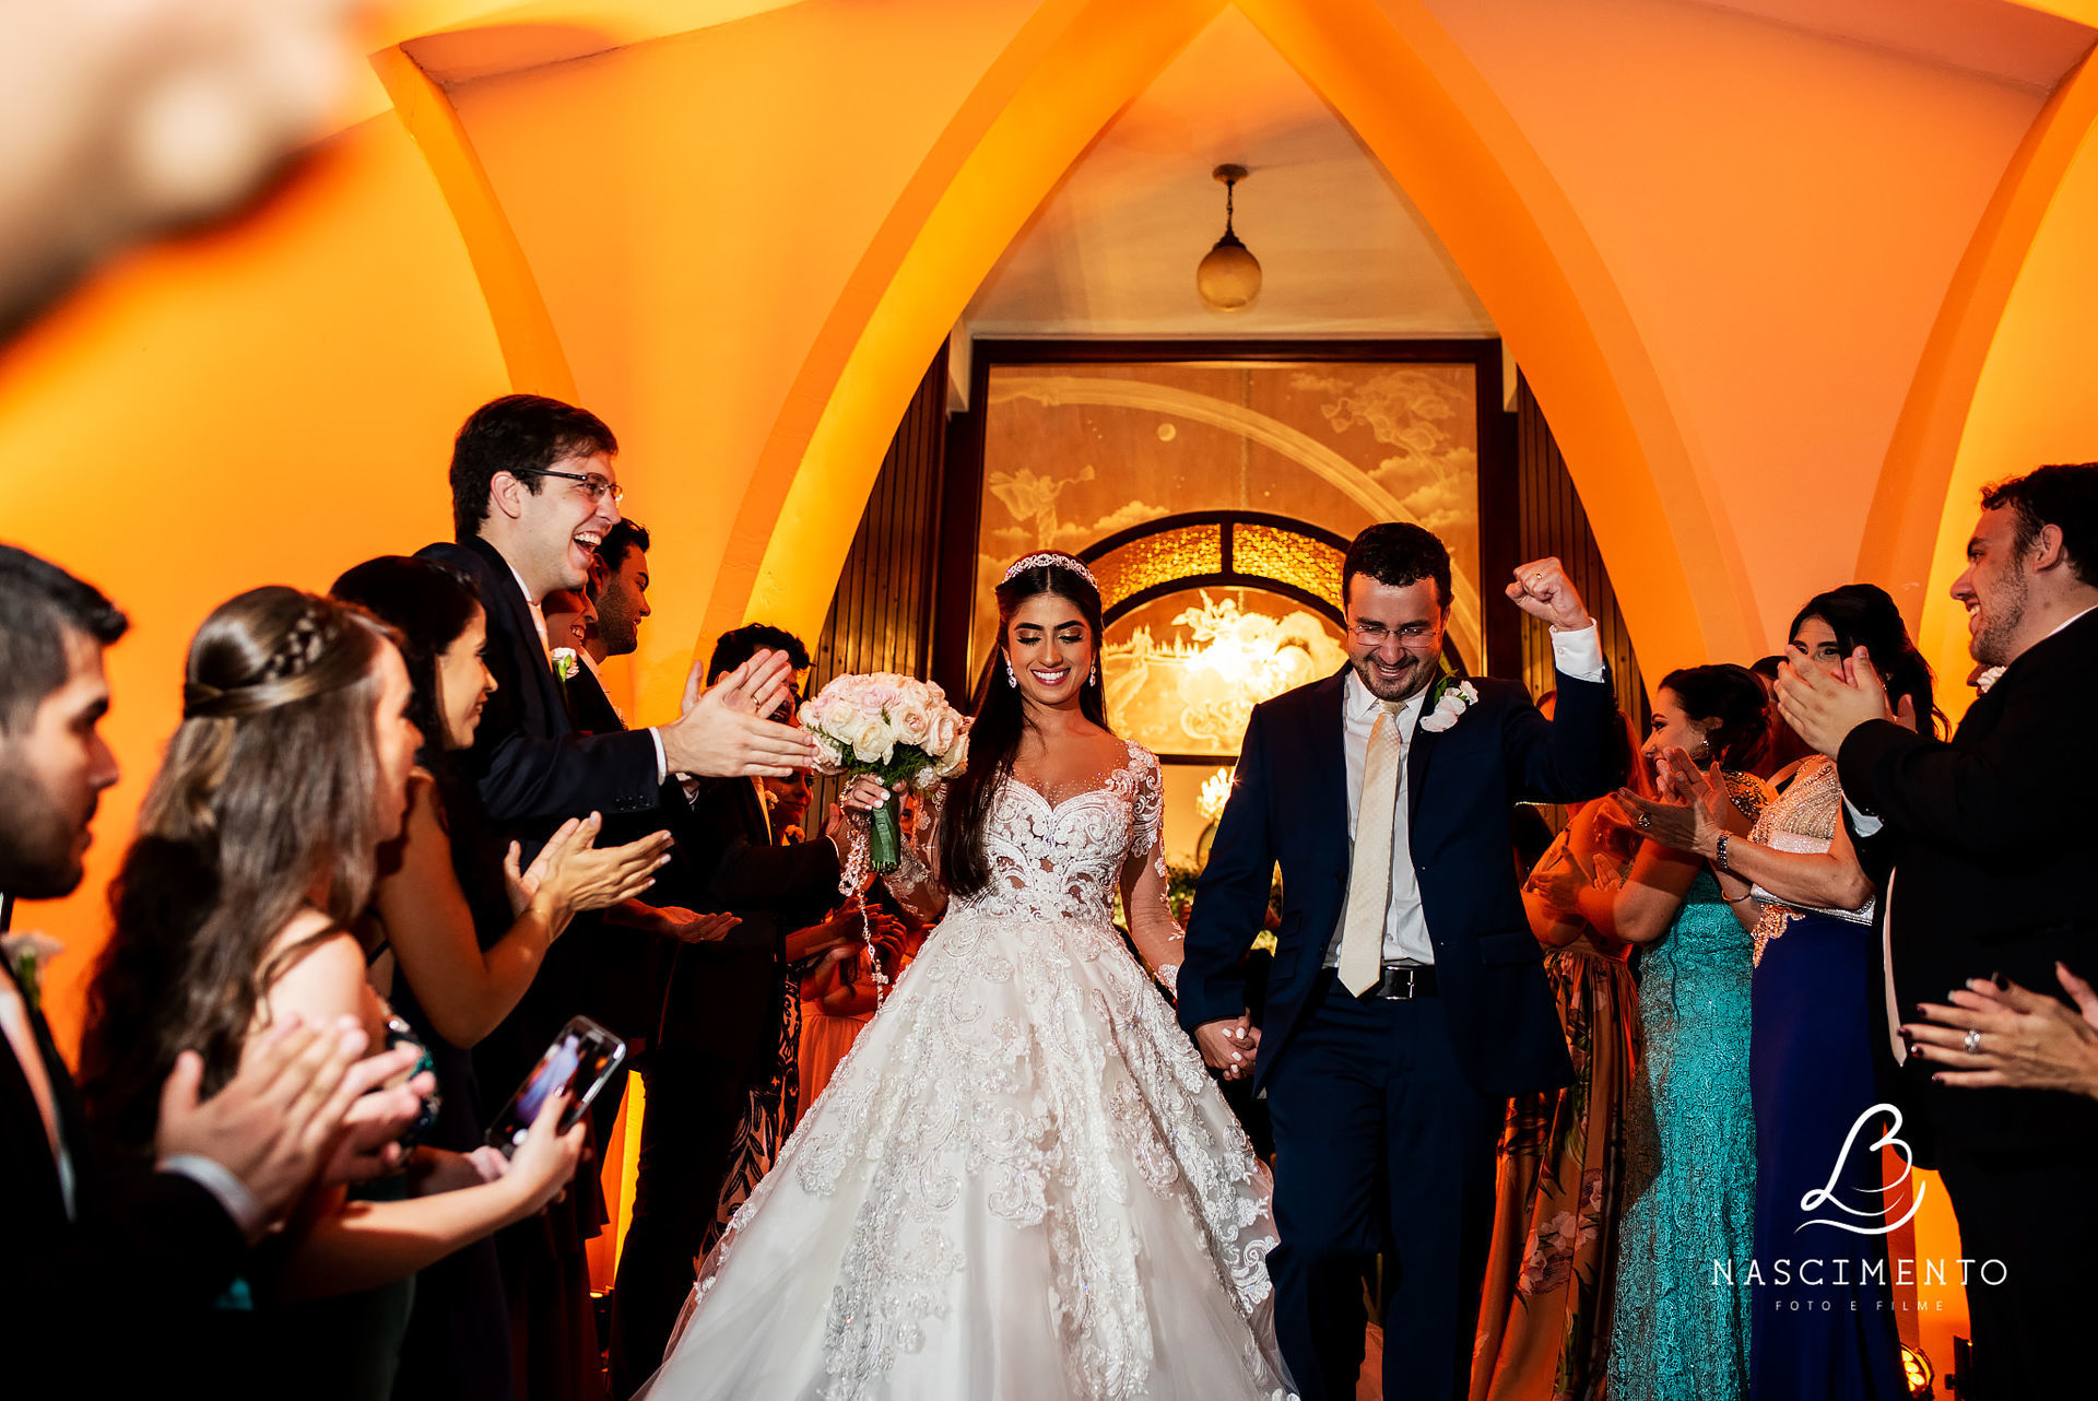
[[[1240,967],[1280,862],[1255,1086],[1276,1135],[1284,1357],[1305,1401],[1355,1395],[1362,1277],[1380,1252],[1385,1395],[1464,1397],[1506,1099],[1571,1080],[1511,814],[1607,793],[1624,776],[1622,721],[1607,680],[1561,675],[1555,721],[1521,686],[1479,680],[1452,728],[1414,730],[1404,793],[1437,992],[1357,1000],[1324,967],[1351,864],[1347,675],[1253,711],[1187,921],[1179,1019],[1196,1030],[1246,1007]]]

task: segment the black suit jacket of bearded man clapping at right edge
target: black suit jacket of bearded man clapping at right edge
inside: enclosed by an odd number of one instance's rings
[[[2094,707],[2098,612],[2085,612],[2010,663],[1949,742],[1892,721],[1844,740],[1844,797],[1884,824],[1853,835],[1867,870],[1892,866],[1882,904],[1905,1021],[1970,977],[2001,973],[2052,996],[2062,996],[2056,958],[2098,977],[2098,858],[2085,814],[2098,791]],[[1909,1082],[1945,1141],[2098,1139],[2090,1099]]]

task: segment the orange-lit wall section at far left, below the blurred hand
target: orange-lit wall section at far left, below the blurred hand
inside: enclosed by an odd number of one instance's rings
[[[88,881],[21,912],[67,942],[50,975],[65,1044],[103,885],[180,713],[189,633],[245,587],[325,589],[373,554],[449,539],[449,438],[462,405],[506,388],[451,216],[390,113],[331,138],[231,233],[109,271],[0,361],[0,537],[132,617],[105,721],[124,780]]]

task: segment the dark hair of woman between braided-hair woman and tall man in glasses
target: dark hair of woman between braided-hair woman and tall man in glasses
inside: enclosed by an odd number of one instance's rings
[[[436,684],[436,659],[487,612],[480,591],[466,570],[441,560],[382,554],[344,573],[327,594],[394,629],[407,680],[415,688],[407,707],[407,717],[422,730],[415,763],[436,782],[438,820],[451,837],[451,872],[487,946],[510,927],[504,845],[480,805],[478,789],[451,749],[457,736],[445,732],[445,698]]]

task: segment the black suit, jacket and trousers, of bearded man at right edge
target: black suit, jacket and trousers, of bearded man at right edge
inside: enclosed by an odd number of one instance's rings
[[[2062,996],[2056,958],[2098,977],[2083,820],[2098,786],[2094,703],[2098,612],[2088,612],[2010,663],[1951,742],[1892,721],[1844,740],[1844,797],[1867,814],[1853,824],[1859,854],[1867,868],[1892,868],[1884,919],[1905,1021],[1970,977],[2001,973],[2050,996]],[[1999,1286],[1970,1275],[1978,1386],[1960,1395],[2071,1395],[2077,1271],[2098,1248],[2098,1103],[2060,1091],[1951,1089],[1928,1070],[1911,1057],[1903,1080],[1936,1139],[1962,1254],[2008,1267]]]

